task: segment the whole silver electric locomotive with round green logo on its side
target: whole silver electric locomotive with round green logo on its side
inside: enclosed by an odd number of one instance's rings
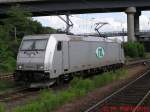
[[[51,85],[76,73],[124,64],[120,42],[93,36],[44,34],[25,36],[17,56],[17,83]]]

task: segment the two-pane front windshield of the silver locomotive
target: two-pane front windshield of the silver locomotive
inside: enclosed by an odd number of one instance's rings
[[[33,40],[24,40],[20,50],[45,50],[47,45],[47,39],[33,39]]]

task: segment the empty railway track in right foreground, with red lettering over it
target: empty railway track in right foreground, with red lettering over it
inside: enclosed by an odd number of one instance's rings
[[[85,112],[150,112],[150,107],[143,105],[150,95],[149,82],[150,70],[147,70],[140,77],[92,105]]]

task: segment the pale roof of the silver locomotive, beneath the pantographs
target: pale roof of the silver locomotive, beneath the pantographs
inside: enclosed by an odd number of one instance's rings
[[[38,34],[38,35],[28,35],[24,39],[47,39],[53,37],[58,41],[106,41],[106,42],[116,42],[112,39],[101,38],[96,36],[87,35],[67,35],[67,34]],[[118,43],[119,41],[117,41]],[[120,43],[120,42],[119,42]]]

